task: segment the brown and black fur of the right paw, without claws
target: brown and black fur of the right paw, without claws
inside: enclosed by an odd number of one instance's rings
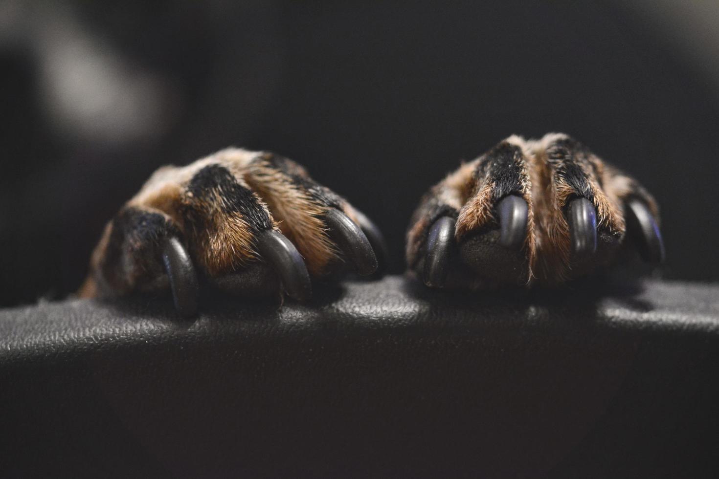
[[[495,207],[510,194],[528,205],[521,251],[505,251],[496,244]],[[566,218],[567,204],[575,197],[589,200],[597,214],[597,251],[581,261],[572,259]],[[437,218],[449,216],[457,220],[458,251],[446,287],[561,284],[615,259],[626,236],[623,208],[629,198],[639,198],[658,217],[656,202],[644,187],[579,141],[566,134],[546,134],[539,140],[510,136],[423,196],[408,228],[408,266],[421,275],[429,228]],[[478,248],[482,260],[470,264],[464,251]]]

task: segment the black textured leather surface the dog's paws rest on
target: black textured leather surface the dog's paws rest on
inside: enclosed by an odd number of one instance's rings
[[[0,312],[1,477],[712,477],[719,286]]]

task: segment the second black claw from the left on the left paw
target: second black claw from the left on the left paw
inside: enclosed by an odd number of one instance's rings
[[[265,230],[257,234],[257,251],[280,275],[288,296],[298,301],[309,299],[312,284],[301,254],[282,233]]]

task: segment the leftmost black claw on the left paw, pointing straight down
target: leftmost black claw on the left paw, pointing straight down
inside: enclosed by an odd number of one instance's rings
[[[162,248],[162,262],[170,278],[175,309],[183,317],[197,312],[198,282],[195,266],[180,240],[175,236],[165,241]]]

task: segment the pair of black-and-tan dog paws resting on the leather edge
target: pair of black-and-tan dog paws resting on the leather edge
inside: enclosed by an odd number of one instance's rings
[[[510,136],[424,195],[406,259],[430,287],[559,284],[628,248],[661,261],[657,218],[649,192],[578,141]],[[80,294],[170,289],[191,315],[201,283],[303,300],[312,279],[368,276],[386,261],[374,223],[299,164],[225,149],[158,169],[106,225]]]

